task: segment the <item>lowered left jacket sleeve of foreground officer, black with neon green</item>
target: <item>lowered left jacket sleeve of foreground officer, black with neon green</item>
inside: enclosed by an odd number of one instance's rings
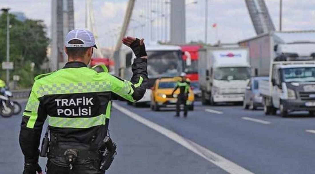
[[[19,137],[25,162],[38,162],[38,147],[46,118],[47,114],[42,102],[37,99],[35,92],[31,91],[23,113]]]

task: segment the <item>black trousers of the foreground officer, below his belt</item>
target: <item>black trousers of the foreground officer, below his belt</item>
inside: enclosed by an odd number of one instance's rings
[[[55,165],[51,161],[47,162],[47,174],[105,174],[105,172],[100,172],[93,165],[87,164],[85,166],[73,166],[72,170],[69,167],[62,167]]]

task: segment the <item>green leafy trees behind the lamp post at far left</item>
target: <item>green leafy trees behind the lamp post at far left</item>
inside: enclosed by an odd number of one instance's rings
[[[30,87],[34,75],[41,73],[40,67],[47,62],[47,38],[46,26],[42,20],[27,19],[19,21],[10,14],[10,61],[14,62],[14,70],[10,71],[10,79],[13,75],[20,75],[20,87]],[[7,46],[7,14],[0,16],[0,63],[6,61]],[[31,71],[31,62],[35,63],[34,71]],[[5,79],[5,70],[1,70],[1,79]]]

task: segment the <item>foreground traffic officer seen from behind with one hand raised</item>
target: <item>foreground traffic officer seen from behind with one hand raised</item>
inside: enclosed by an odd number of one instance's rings
[[[58,71],[35,78],[23,113],[20,130],[20,147],[25,156],[23,174],[42,172],[38,157],[45,152],[38,148],[46,118],[50,133],[50,143],[44,143],[49,144],[47,174],[105,173],[104,166],[111,158],[104,160],[104,151],[100,149],[114,147],[113,143],[108,145],[111,142],[107,136],[111,101],[135,102],[146,92],[147,54],[143,40],[133,37],[122,40],[137,57],[131,81],[127,81],[87,67],[97,48],[89,30],[68,33],[65,41],[68,62]]]

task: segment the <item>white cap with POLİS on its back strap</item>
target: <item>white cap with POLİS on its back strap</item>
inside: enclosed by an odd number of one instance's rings
[[[82,41],[82,44],[70,44],[69,42],[77,39]],[[95,47],[96,42],[93,33],[90,30],[86,29],[75,29],[70,31],[66,36],[65,41],[66,47],[72,47],[72,48],[89,48],[89,47]]]

